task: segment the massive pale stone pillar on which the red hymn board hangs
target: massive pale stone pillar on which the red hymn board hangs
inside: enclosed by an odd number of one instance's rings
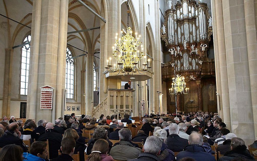
[[[34,0],[27,118],[53,121],[61,113],[61,89],[65,86],[68,0]],[[63,79],[64,77],[64,79]],[[40,109],[40,88],[54,88],[53,109]]]

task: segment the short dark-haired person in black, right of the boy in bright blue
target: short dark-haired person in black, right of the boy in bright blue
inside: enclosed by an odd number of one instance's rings
[[[75,149],[75,139],[72,137],[63,138],[61,141],[61,151],[62,154],[56,156],[56,158],[52,159],[52,161],[74,161],[71,157],[74,154]],[[57,151],[58,152],[58,151]]]

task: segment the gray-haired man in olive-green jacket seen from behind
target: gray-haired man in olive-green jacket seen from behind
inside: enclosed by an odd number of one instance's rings
[[[120,142],[112,147],[110,156],[115,160],[134,159],[141,153],[140,148],[135,148],[131,143],[131,131],[128,128],[119,131]]]

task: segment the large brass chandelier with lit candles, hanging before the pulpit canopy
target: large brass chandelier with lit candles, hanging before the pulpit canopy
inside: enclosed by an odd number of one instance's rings
[[[129,10],[127,10],[127,13],[127,16],[130,16]],[[122,72],[123,75],[129,75],[130,73],[134,75],[136,72],[139,72],[140,74],[143,74],[143,72],[148,72],[151,68],[150,59],[148,59],[148,61],[146,60],[146,54],[144,53],[143,45],[141,45],[141,51],[138,49],[142,43],[141,36],[139,35],[137,37],[137,33],[135,33],[136,38],[132,36],[132,29],[128,26],[128,22],[127,30],[124,31],[124,33],[125,35],[123,36],[123,31],[121,31],[121,38],[118,38],[118,33],[116,33],[115,44],[112,47],[112,56],[115,58],[117,65],[111,64],[112,58],[110,57],[107,59],[107,66],[105,69],[111,73],[118,72],[117,74],[119,74]]]

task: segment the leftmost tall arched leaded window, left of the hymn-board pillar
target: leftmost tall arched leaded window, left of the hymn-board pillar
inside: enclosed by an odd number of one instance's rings
[[[29,43],[31,35],[28,35],[23,40],[23,44]],[[30,65],[30,44],[26,44],[22,47],[21,52],[21,88],[20,94],[28,94],[28,82],[29,82],[29,65]]]

